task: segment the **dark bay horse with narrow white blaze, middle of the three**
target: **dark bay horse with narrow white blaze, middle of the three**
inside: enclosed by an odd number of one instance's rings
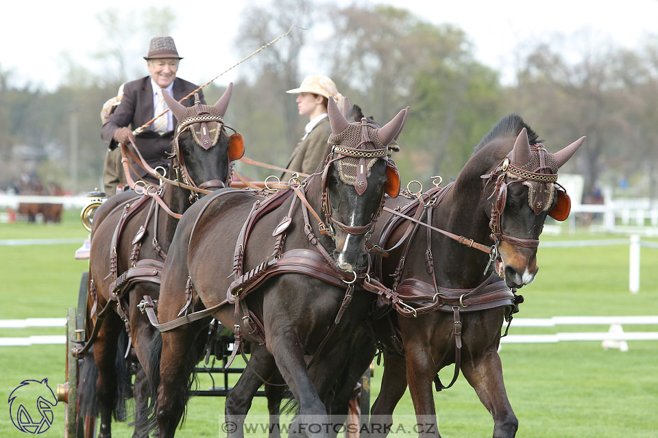
[[[181,309],[205,307],[210,312],[199,315],[212,313],[232,328],[236,348],[242,337],[265,344],[267,349],[252,354],[247,370],[269,376],[278,368],[299,402],[297,425],[308,424],[310,416],[326,422],[322,400],[371,302],[366,292],[351,294],[347,283],[365,279],[365,233],[384,193],[399,190],[386,145],[400,131],[404,114],[380,129],[367,121],[350,124],[330,99],[332,136],[326,162],[314,175],[301,184],[291,180],[291,190],[269,198],[218,190],[186,211],[170,246],[158,320],[173,323]],[[190,359],[191,346],[207,323],[199,318],[162,331],[160,374],[149,379],[156,383],[159,377],[160,437],[173,436],[181,420],[196,359]],[[309,366],[305,356],[318,354],[321,359]]]

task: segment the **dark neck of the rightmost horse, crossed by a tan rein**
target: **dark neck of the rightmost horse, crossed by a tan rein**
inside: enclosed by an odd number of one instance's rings
[[[432,225],[488,246],[492,243],[489,237],[491,230],[489,218],[482,207],[483,197],[486,196],[489,195],[483,193],[479,173],[461,181],[457,179],[452,190],[435,208]],[[467,288],[484,281],[483,272],[489,256],[482,251],[432,232],[432,253],[439,285]]]

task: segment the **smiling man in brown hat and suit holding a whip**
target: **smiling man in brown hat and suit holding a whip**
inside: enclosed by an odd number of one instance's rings
[[[103,123],[101,138],[110,150],[115,149],[119,143],[130,144],[132,140],[149,166],[152,168],[163,166],[167,169],[169,165],[167,154],[171,153],[173,129],[176,126],[173,114],[167,112],[157,118],[137,136],[133,136],[132,131],[167,109],[162,97],[163,92],[180,101],[198,87],[194,83],[176,77],[182,57],[178,55],[171,36],[156,36],[151,39],[149,53],[144,59],[147,62],[149,75],[124,84],[121,103]],[[199,97],[202,103],[206,103],[203,92],[199,91]],[[193,101],[194,96],[191,96],[182,104],[189,107]],[[132,166],[138,172],[137,175],[131,175],[134,181],[143,179],[158,182],[136,164]],[[167,176],[169,177],[169,170]]]

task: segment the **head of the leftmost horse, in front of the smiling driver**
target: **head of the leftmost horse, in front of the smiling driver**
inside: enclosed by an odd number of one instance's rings
[[[178,120],[171,155],[177,181],[200,189],[222,188],[230,182],[230,162],[244,153],[241,134],[228,136],[226,128],[234,129],[223,120],[232,92],[230,83],[215,105],[203,105],[196,99],[191,107],[162,94]]]

